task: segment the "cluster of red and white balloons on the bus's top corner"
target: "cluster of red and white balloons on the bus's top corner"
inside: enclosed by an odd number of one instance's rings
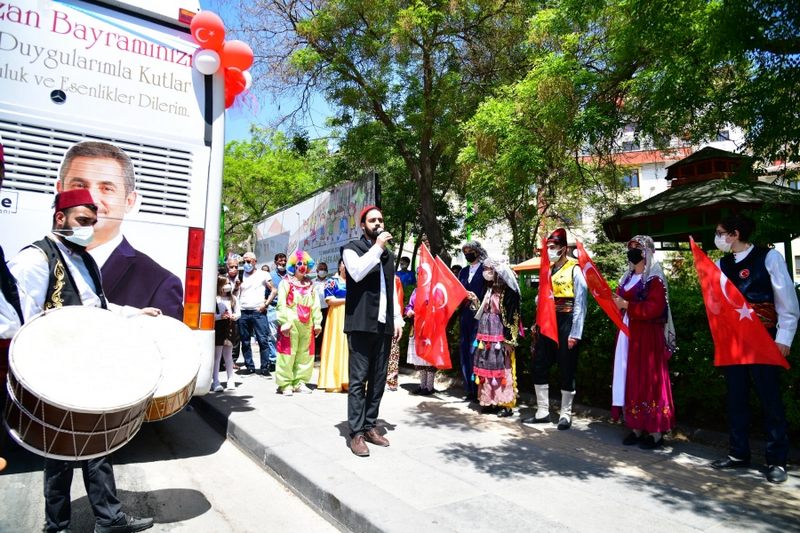
[[[247,70],[253,64],[253,50],[242,41],[225,40],[225,24],[211,11],[201,11],[189,26],[200,49],[194,54],[194,67],[209,76],[224,69],[225,107],[253,83]]]

